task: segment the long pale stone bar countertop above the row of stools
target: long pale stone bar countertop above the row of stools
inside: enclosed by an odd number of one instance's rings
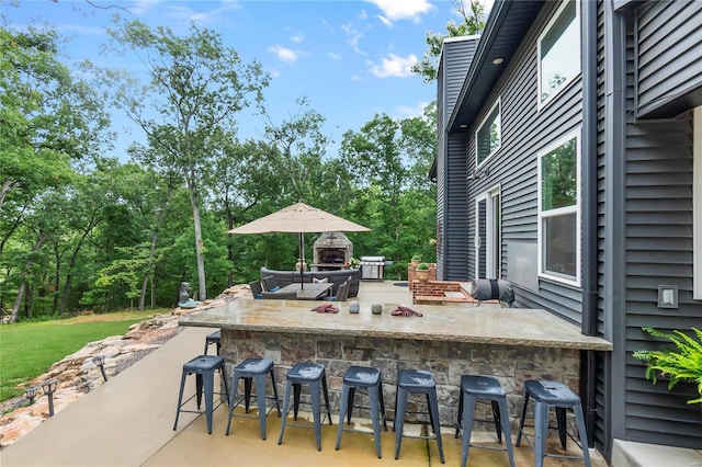
[[[382,315],[361,303],[359,314],[349,301],[331,303],[338,314],[312,308],[326,303],[236,299],[183,316],[180,326],[225,330],[364,337],[520,346],[611,351],[604,339],[584,335],[580,329],[542,309],[412,305],[422,317],[396,317],[397,304],[384,304]]]

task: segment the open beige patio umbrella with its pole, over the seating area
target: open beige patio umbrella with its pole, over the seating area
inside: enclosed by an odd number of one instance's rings
[[[304,203],[293,204],[273,214],[252,220],[227,234],[297,234],[299,236],[299,284],[304,288],[305,232],[369,231],[367,227],[335,216]]]

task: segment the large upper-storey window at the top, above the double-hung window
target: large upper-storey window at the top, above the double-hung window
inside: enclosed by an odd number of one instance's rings
[[[580,73],[580,18],[575,0],[563,3],[539,36],[539,105]]]

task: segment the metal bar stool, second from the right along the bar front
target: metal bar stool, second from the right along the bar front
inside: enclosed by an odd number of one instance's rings
[[[490,405],[492,406],[492,423],[495,423],[497,441],[502,444],[502,432],[505,432],[507,447],[471,444],[471,433],[473,432],[473,422],[475,417],[475,401],[477,399],[490,401]],[[490,376],[461,376],[461,398],[458,399],[458,421],[456,423],[455,437],[458,437],[461,430],[463,430],[461,466],[465,466],[465,463],[468,460],[468,449],[473,446],[485,449],[507,451],[509,465],[514,467],[514,452],[512,451],[512,437],[509,429],[507,395],[497,379]]]

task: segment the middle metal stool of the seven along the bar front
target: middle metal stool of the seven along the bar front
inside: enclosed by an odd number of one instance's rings
[[[337,431],[337,446],[341,445],[341,433],[347,431],[359,431],[343,428],[343,417],[348,417],[348,424],[351,424],[351,412],[353,410],[353,398],[356,389],[365,389],[371,400],[371,420],[373,422],[373,435],[375,436],[375,451],[377,458],[381,454],[381,418],[387,431],[387,418],[385,417],[385,402],[383,400],[383,379],[381,371],[365,366],[351,366],[343,375],[343,387],[341,390],[341,403],[339,406],[339,430]]]

